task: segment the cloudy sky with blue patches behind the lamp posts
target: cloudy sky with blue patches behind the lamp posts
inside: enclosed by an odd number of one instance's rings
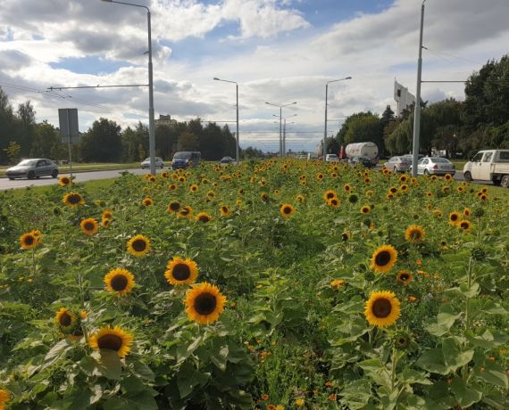
[[[241,146],[277,151],[288,104],[287,148],[313,149],[358,111],[381,113],[394,79],[415,93],[421,0],[130,0],[152,13],[155,117],[235,120]],[[463,80],[507,53],[508,0],[428,0],[423,80]],[[38,121],[79,109],[79,127],[114,119],[147,123],[146,87],[47,91],[51,86],[147,83],[143,8],[100,0],[0,0],[0,86],[30,100]],[[430,102],[463,99],[463,85],[422,86]],[[278,118],[274,117],[276,115]],[[274,123],[278,122],[278,124]],[[229,123],[235,129],[234,122]]]

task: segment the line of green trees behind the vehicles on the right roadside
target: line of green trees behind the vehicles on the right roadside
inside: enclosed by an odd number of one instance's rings
[[[470,158],[480,149],[509,148],[509,55],[473,72],[464,93],[463,102],[421,102],[421,153],[430,155],[436,149],[448,158],[458,153]],[[381,116],[355,113],[326,143],[328,152],[338,152],[341,144],[362,142],[376,143],[380,155],[412,152],[413,107],[398,118],[390,106]]]

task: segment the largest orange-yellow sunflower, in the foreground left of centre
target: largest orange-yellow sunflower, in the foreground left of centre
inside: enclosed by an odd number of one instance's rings
[[[190,289],[184,299],[189,319],[197,324],[212,324],[224,310],[226,298],[217,286],[200,283]]]

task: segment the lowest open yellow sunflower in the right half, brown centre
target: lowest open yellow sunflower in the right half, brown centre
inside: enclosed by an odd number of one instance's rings
[[[395,324],[400,313],[400,303],[392,291],[373,291],[366,301],[364,316],[369,324],[387,327]]]

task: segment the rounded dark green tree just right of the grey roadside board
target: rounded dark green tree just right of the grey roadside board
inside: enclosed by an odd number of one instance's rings
[[[121,127],[112,120],[94,121],[80,143],[81,158],[85,161],[114,162],[121,160]]]

